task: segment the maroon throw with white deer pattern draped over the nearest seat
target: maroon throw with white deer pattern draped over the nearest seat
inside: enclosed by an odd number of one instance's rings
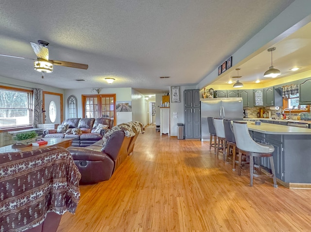
[[[0,232],[35,227],[49,212],[74,214],[80,178],[62,147],[0,153]]]

